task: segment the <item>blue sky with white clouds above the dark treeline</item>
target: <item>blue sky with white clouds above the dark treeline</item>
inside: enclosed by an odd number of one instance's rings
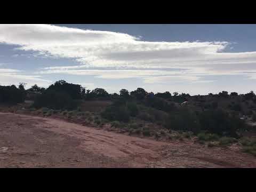
[[[255,92],[255,34],[256,25],[1,24],[0,85]]]

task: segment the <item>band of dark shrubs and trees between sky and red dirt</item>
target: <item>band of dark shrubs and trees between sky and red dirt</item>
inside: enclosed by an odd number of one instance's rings
[[[15,105],[25,99],[34,100],[30,113],[58,114],[98,127],[107,123],[114,130],[156,139],[197,138],[197,142],[208,147],[237,142],[244,151],[255,154],[255,141],[240,138],[243,131],[249,130],[246,118],[256,121],[256,96],[252,91],[244,95],[221,91],[190,96],[169,91],[154,94],[138,88],[109,94],[102,88],[85,90],[81,85],[63,80],[47,89],[33,85],[25,90],[25,86],[25,83],[20,83],[18,88],[0,86],[0,102]],[[15,110],[10,108],[10,111]]]

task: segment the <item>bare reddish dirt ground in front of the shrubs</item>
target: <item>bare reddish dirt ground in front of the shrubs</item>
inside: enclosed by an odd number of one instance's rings
[[[162,142],[68,123],[0,113],[0,167],[256,167],[239,146]]]

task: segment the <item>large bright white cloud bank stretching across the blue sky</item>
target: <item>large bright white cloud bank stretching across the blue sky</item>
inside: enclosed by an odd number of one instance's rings
[[[43,68],[37,72],[41,75],[141,78],[144,83],[152,84],[173,81],[210,83],[211,80],[202,79],[202,76],[247,75],[254,78],[251,73],[256,73],[256,52],[225,52],[232,44],[225,41],[148,42],[111,31],[2,24],[0,43],[17,45],[17,49],[23,51],[34,51],[34,57],[71,58],[78,62],[74,66]],[[175,68],[182,70],[173,71]]]

